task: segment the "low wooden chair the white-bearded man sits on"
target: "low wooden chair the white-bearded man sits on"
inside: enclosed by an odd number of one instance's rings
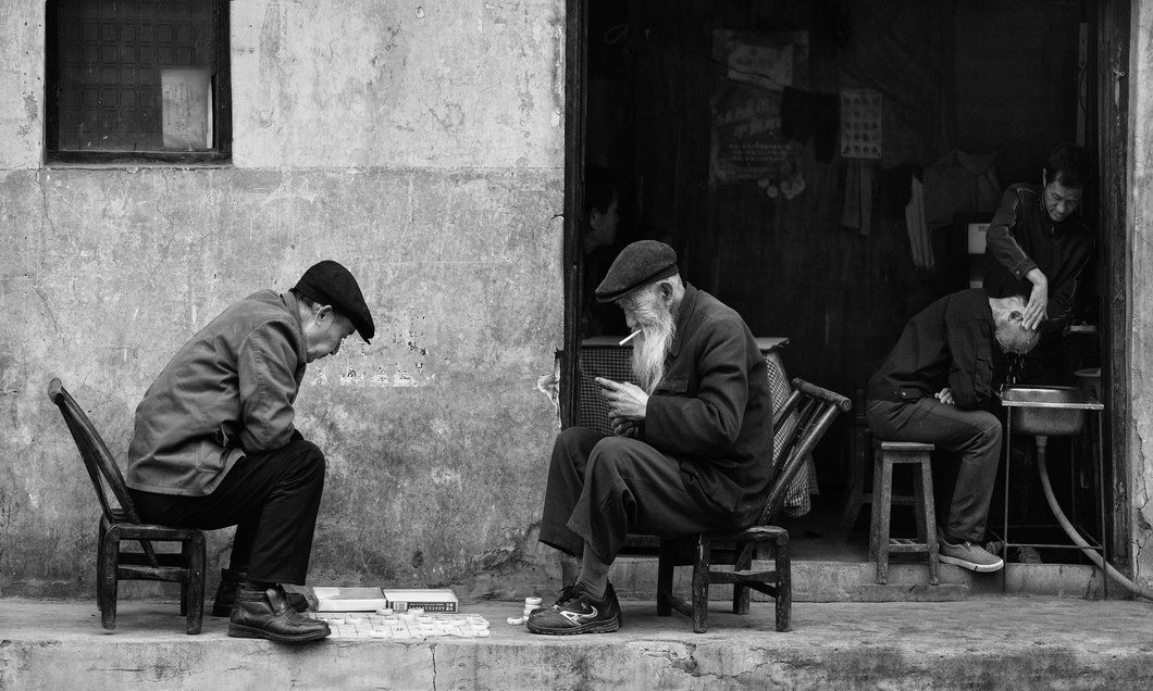
[[[852,408],[849,398],[812,385],[801,379],[792,380],[793,392],[773,415],[774,435],[783,434],[779,456],[774,462],[778,470],[773,479],[769,495],[760,519],[752,526],[737,532],[701,533],[689,538],[693,553],[686,554],[685,541],[655,540],[651,536],[630,536],[621,554],[631,556],[656,556],[657,599],[660,616],[669,616],[673,609],[693,621],[693,631],[707,630],[709,586],[731,583],[732,610],[748,614],[749,591],[755,590],[776,601],[776,629],[787,631],[792,614],[792,577],[789,557],[789,532],[773,525],[789,493],[789,485],[800,471],[806,456],[811,454],[829,431],[832,420]],[[781,440],[777,440],[781,441]],[[654,544],[656,542],[656,544]],[[771,545],[775,563],[769,570],[753,570],[752,562],[759,545]],[[692,565],[692,593],[688,599],[672,592],[676,567]],[[731,569],[715,569],[728,565]]]

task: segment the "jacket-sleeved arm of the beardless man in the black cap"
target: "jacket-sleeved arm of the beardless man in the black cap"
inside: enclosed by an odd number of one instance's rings
[[[291,329],[287,324],[269,321],[253,329],[240,344],[240,446],[246,451],[278,449],[295,432],[297,356]]]

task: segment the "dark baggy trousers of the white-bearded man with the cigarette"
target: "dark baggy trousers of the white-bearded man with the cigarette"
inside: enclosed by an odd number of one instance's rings
[[[630,532],[676,539],[721,530],[729,512],[685,489],[680,465],[635,439],[570,427],[552,446],[541,541],[612,562]]]

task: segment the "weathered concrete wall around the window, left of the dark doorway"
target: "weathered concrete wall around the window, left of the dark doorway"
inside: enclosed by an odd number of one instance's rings
[[[42,165],[43,5],[0,6],[0,594],[95,577],[96,499],[48,379],[122,458],[180,344],[322,258],[359,278],[377,336],[301,389],[329,460],[312,582],[537,577],[563,2],[232,2],[233,165],[191,169]]]

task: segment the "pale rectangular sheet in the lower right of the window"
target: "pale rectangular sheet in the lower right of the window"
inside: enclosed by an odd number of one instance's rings
[[[208,68],[161,68],[160,104],[165,149],[212,147],[212,74]]]

